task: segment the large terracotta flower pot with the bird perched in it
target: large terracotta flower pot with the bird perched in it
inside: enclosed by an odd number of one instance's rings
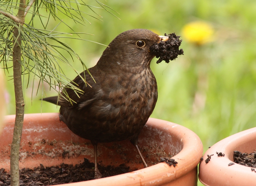
[[[9,155],[14,115],[6,117],[6,127],[0,144],[0,168],[10,170]],[[150,167],[143,168],[136,149],[128,141],[98,145],[98,162],[118,166],[125,163],[140,170],[98,180],[69,183],[69,186],[86,185],[197,185],[197,165],[203,154],[198,136],[175,123],[149,118],[139,136],[142,155]],[[176,167],[158,163],[160,157],[173,156]],[[93,146],[89,140],[79,138],[60,122],[57,113],[27,114],[21,139],[20,168],[77,164],[84,158],[93,162]],[[156,164],[158,163],[158,164]],[[156,164],[156,165],[154,165]]]

